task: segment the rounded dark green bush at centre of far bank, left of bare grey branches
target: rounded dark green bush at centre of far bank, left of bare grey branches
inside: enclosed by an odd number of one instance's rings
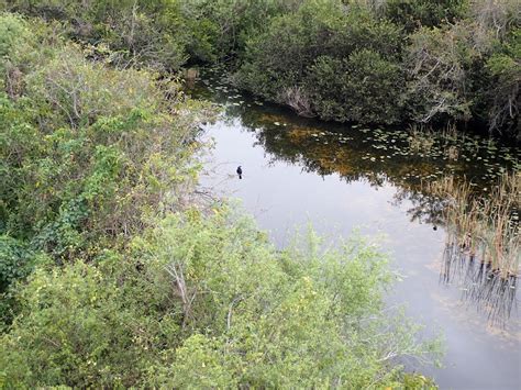
[[[399,29],[364,9],[307,1],[248,42],[237,80],[291,105],[288,96],[298,90],[303,107],[297,109],[309,114],[304,108],[311,105],[322,119],[396,123],[403,86],[400,51]]]

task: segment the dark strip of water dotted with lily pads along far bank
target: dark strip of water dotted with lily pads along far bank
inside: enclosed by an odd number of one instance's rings
[[[240,115],[243,125],[263,138],[259,141],[266,143],[267,151],[309,165],[320,175],[336,171],[347,181],[365,177],[376,186],[385,177],[384,181],[409,190],[454,175],[472,178],[478,188],[491,188],[505,171],[520,168],[516,148],[459,133],[455,126],[433,131],[418,125],[383,129],[318,122],[288,115],[288,110],[240,92],[230,80],[219,77],[219,71],[201,74],[202,88],[193,91],[196,96],[208,98],[206,93],[213,88],[211,99],[222,102],[229,118]],[[332,156],[335,164],[328,159]]]

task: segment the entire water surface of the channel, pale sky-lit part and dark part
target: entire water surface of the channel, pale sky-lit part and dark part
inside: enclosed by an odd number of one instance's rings
[[[437,140],[418,149],[406,131],[304,120],[211,76],[204,82],[195,93],[222,105],[223,113],[204,126],[214,148],[203,186],[240,199],[280,246],[307,223],[331,239],[353,230],[378,236],[402,277],[388,304],[404,304],[425,334],[441,330],[445,337],[444,367],[418,370],[442,389],[520,388],[518,289],[487,292],[486,272],[483,285],[469,278],[479,274],[475,265],[444,263],[441,205],[421,191],[422,182],[454,175],[486,194],[505,169],[519,169],[514,149],[474,137]],[[455,149],[457,159],[447,157]],[[473,298],[469,289],[488,298]],[[503,310],[495,310],[498,305]]]

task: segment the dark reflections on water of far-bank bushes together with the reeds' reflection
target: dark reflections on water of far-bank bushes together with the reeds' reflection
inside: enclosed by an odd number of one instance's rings
[[[447,229],[444,200],[425,191],[425,182],[452,176],[472,182],[476,196],[487,197],[499,176],[519,169],[519,152],[486,140],[450,134],[445,137],[411,138],[400,129],[369,129],[288,116],[278,107],[242,96],[236,89],[207,75],[207,87],[196,91],[222,105],[221,120],[236,120],[251,132],[271,164],[284,161],[320,176],[337,174],[345,182],[365,181],[374,188],[392,185],[393,204],[410,204],[412,222]],[[422,146],[422,145],[428,145]],[[457,153],[455,153],[457,152]],[[463,291],[465,302],[485,311],[494,323],[506,324],[516,305],[516,277],[497,275],[486,264],[468,258],[447,234],[441,281]]]

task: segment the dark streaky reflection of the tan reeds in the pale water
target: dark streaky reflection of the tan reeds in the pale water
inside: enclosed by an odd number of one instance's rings
[[[505,326],[517,308],[518,278],[502,275],[454,242],[445,245],[440,280],[462,289],[462,298],[485,312],[492,324]]]

